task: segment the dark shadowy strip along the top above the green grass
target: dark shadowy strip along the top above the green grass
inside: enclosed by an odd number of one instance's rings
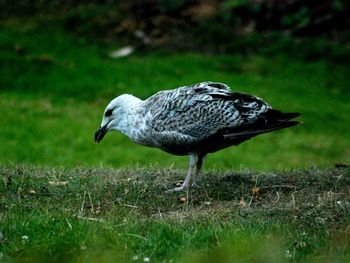
[[[350,59],[345,0],[1,0],[2,18],[35,17],[97,42],[208,53]]]

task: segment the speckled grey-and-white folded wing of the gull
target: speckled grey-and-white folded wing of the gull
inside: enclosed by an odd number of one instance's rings
[[[145,118],[162,141],[195,143],[254,123],[270,108],[260,98],[232,92],[225,84],[203,82],[153,95],[145,101]]]

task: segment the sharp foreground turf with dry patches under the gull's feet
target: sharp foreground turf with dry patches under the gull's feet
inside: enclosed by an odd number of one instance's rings
[[[14,262],[347,262],[350,170],[203,176],[2,166],[1,259]],[[25,237],[26,236],[26,237]]]

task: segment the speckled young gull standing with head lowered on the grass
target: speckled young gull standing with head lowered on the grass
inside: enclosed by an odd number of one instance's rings
[[[170,154],[189,156],[189,168],[178,192],[198,186],[207,154],[237,146],[257,135],[299,124],[298,112],[283,113],[261,98],[232,91],[220,82],[201,82],[162,90],[145,100],[130,94],[114,98],[105,108],[95,133],[99,143],[110,131]]]

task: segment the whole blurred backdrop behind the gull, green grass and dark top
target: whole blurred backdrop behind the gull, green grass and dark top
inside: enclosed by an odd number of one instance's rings
[[[125,1],[126,2],[126,1]],[[107,103],[218,81],[303,125],[209,156],[213,169],[328,167],[350,156],[347,1],[0,1],[0,162],[185,168],[113,133]],[[129,56],[111,52],[130,46]]]

